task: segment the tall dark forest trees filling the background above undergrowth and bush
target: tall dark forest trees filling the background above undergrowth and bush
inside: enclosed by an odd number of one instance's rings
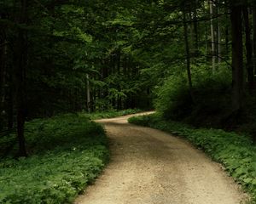
[[[17,127],[20,155],[25,156],[26,120],[68,111],[150,108],[154,88],[183,71],[196,103],[194,73],[212,69],[214,74],[229,66],[230,112],[239,111],[247,83],[251,94],[254,90],[254,4],[4,1],[0,130]]]

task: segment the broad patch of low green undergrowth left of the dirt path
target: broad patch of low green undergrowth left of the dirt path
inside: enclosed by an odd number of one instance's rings
[[[26,122],[25,135],[29,156],[0,160],[0,203],[72,203],[108,162],[105,131],[85,116]]]

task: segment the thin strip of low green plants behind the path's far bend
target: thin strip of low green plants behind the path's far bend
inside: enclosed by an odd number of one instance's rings
[[[91,114],[88,113],[80,113],[81,116],[88,116],[91,120],[101,119],[101,118],[111,118],[116,116],[125,116],[130,114],[135,114],[141,112],[140,109],[126,109],[122,111],[102,111],[102,112],[94,112]]]

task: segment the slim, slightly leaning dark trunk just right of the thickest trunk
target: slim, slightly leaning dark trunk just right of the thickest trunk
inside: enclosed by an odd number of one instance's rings
[[[246,34],[246,49],[247,49],[247,80],[249,83],[250,92],[253,89],[253,46],[251,40],[251,26],[247,7],[242,9],[245,34]]]

